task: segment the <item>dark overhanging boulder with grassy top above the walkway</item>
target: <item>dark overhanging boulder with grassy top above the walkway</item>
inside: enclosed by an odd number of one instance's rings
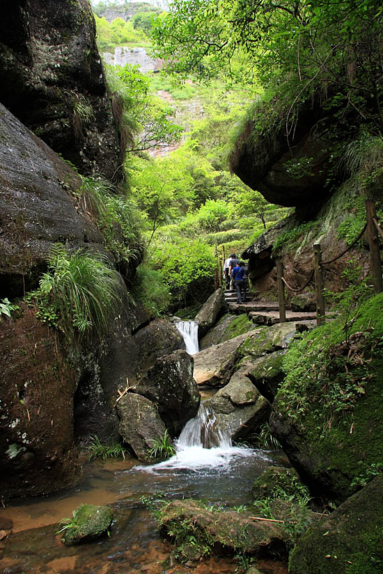
[[[261,112],[272,118],[274,110],[271,107]],[[284,121],[276,120],[257,134],[255,123],[249,120],[231,154],[230,168],[245,184],[277,205],[307,205],[313,203],[314,196],[314,202],[324,198],[328,193],[325,167],[329,143],[322,134],[327,115],[319,102],[302,104],[288,137]]]

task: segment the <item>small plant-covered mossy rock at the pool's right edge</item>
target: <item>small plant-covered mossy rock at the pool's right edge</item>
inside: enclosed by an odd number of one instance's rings
[[[293,496],[297,495],[298,491],[304,491],[306,487],[304,487],[300,481],[295,468],[269,466],[269,468],[253,482],[251,495],[254,500],[263,500],[271,496],[276,488],[284,491],[288,496]]]

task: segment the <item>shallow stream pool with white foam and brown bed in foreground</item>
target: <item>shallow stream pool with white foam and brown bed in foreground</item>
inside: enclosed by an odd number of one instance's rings
[[[199,450],[198,450],[199,449]],[[143,465],[136,459],[85,465],[84,480],[76,488],[49,498],[25,501],[0,509],[13,520],[13,534],[1,559],[8,574],[198,574],[234,573],[233,557],[214,557],[188,569],[164,566],[171,546],[159,538],[155,520],[140,502],[142,495],[166,493],[166,500],[195,497],[212,504],[250,502],[253,479],[274,463],[269,454],[251,449],[189,447],[166,463]],[[205,451],[205,452],[202,452]],[[204,457],[204,458],[203,458]],[[109,504],[115,521],[111,538],[65,547],[56,534],[57,523],[79,504]],[[260,568],[260,564],[257,564]],[[269,574],[286,574],[286,565],[262,563]],[[1,571],[1,569],[0,569]]]

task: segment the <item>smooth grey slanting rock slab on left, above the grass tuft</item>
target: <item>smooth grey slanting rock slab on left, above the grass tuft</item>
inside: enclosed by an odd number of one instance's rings
[[[73,170],[1,104],[0,118],[0,296],[9,298],[38,285],[52,244],[103,248],[70,194],[80,184]]]

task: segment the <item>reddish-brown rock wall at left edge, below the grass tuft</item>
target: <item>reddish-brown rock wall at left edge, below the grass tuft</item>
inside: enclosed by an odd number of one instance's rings
[[[23,307],[0,323],[0,488],[4,500],[41,495],[80,474],[73,441],[76,374],[54,333]]]

